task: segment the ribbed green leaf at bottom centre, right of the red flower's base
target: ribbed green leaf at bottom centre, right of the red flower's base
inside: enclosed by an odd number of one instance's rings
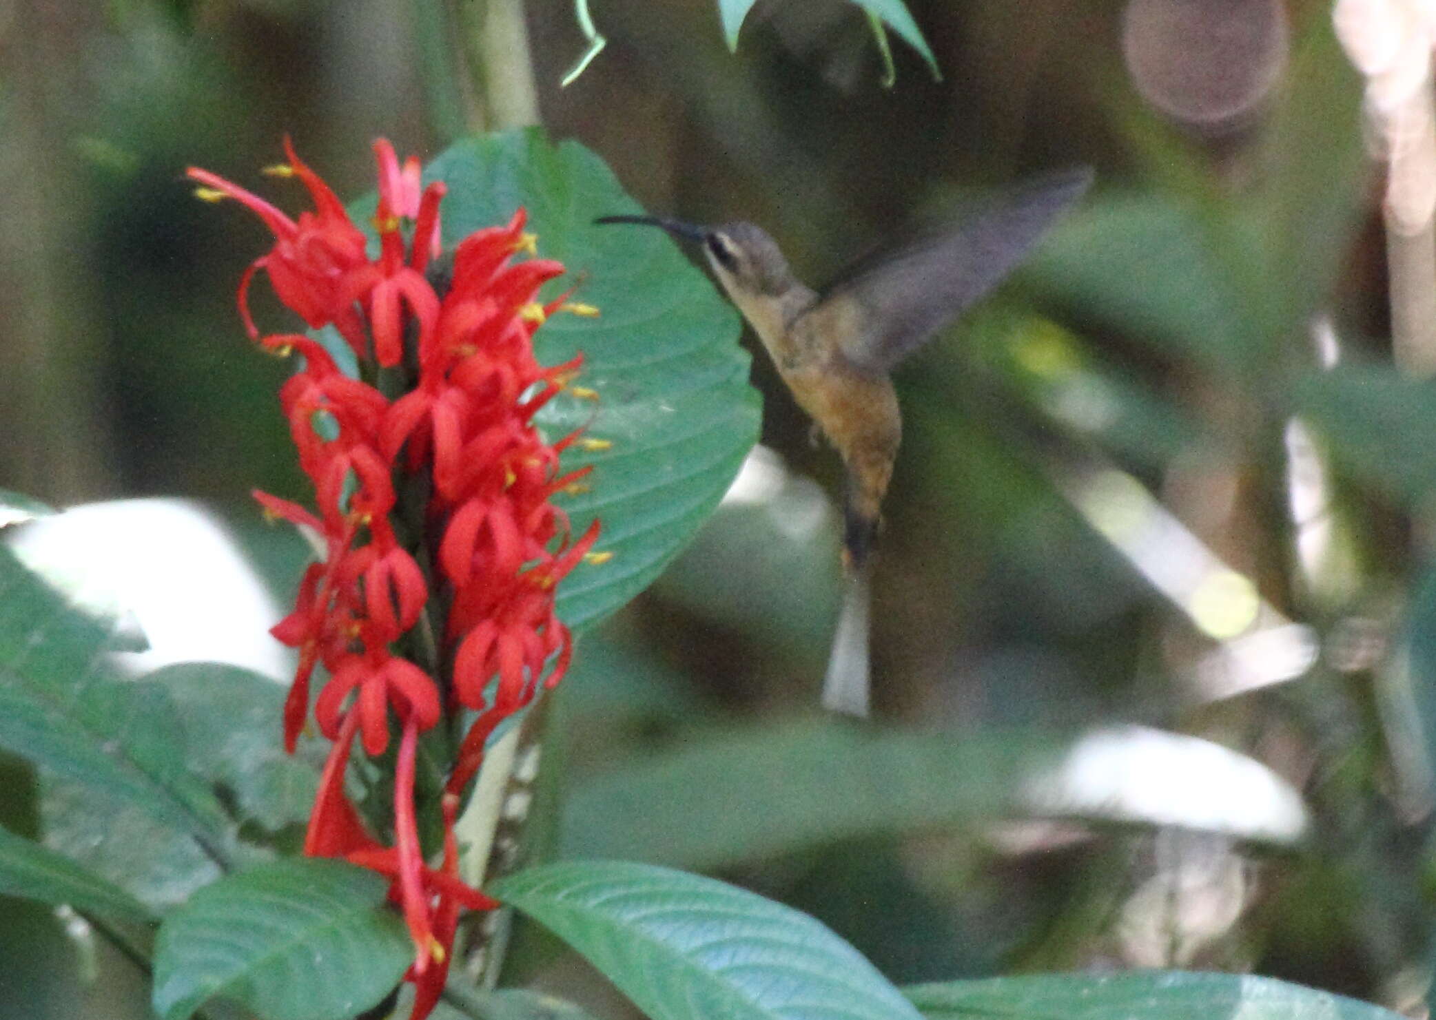
[[[711,878],[574,861],[523,871],[491,892],[563,938],[652,1020],[916,1020],[826,927]]]

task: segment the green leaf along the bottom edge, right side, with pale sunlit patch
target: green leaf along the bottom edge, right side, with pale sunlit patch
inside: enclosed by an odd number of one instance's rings
[[[903,990],[928,1020],[1396,1020],[1354,998],[1249,974],[1038,974]]]

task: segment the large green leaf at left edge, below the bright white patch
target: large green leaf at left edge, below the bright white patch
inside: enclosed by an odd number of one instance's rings
[[[223,856],[228,819],[185,765],[168,696],[99,663],[112,627],[0,548],[0,747],[129,799]]]

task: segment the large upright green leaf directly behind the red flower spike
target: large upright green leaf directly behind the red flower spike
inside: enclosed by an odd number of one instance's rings
[[[528,209],[538,251],[569,267],[551,296],[576,283],[599,318],[553,316],[534,337],[538,360],[584,354],[586,400],[569,393],[538,416],[550,438],[587,426],[612,443],[573,450],[566,469],[593,465],[590,492],[561,505],[576,531],[595,516],[603,564],[580,564],[559,590],[570,625],[613,613],[648,587],[692,538],[757,440],[760,402],[748,386],[737,313],[656,230],[596,227],[603,214],[640,212],[613,174],[576,142],[549,143],[537,129],[467,139],[434,161],[448,184],[449,244]]]

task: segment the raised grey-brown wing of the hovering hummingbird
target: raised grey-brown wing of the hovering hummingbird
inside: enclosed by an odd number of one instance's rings
[[[890,370],[1011,273],[1091,176],[1083,166],[1035,178],[952,227],[853,265],[806,313],[808,327],[836,336],[856,367]]]

